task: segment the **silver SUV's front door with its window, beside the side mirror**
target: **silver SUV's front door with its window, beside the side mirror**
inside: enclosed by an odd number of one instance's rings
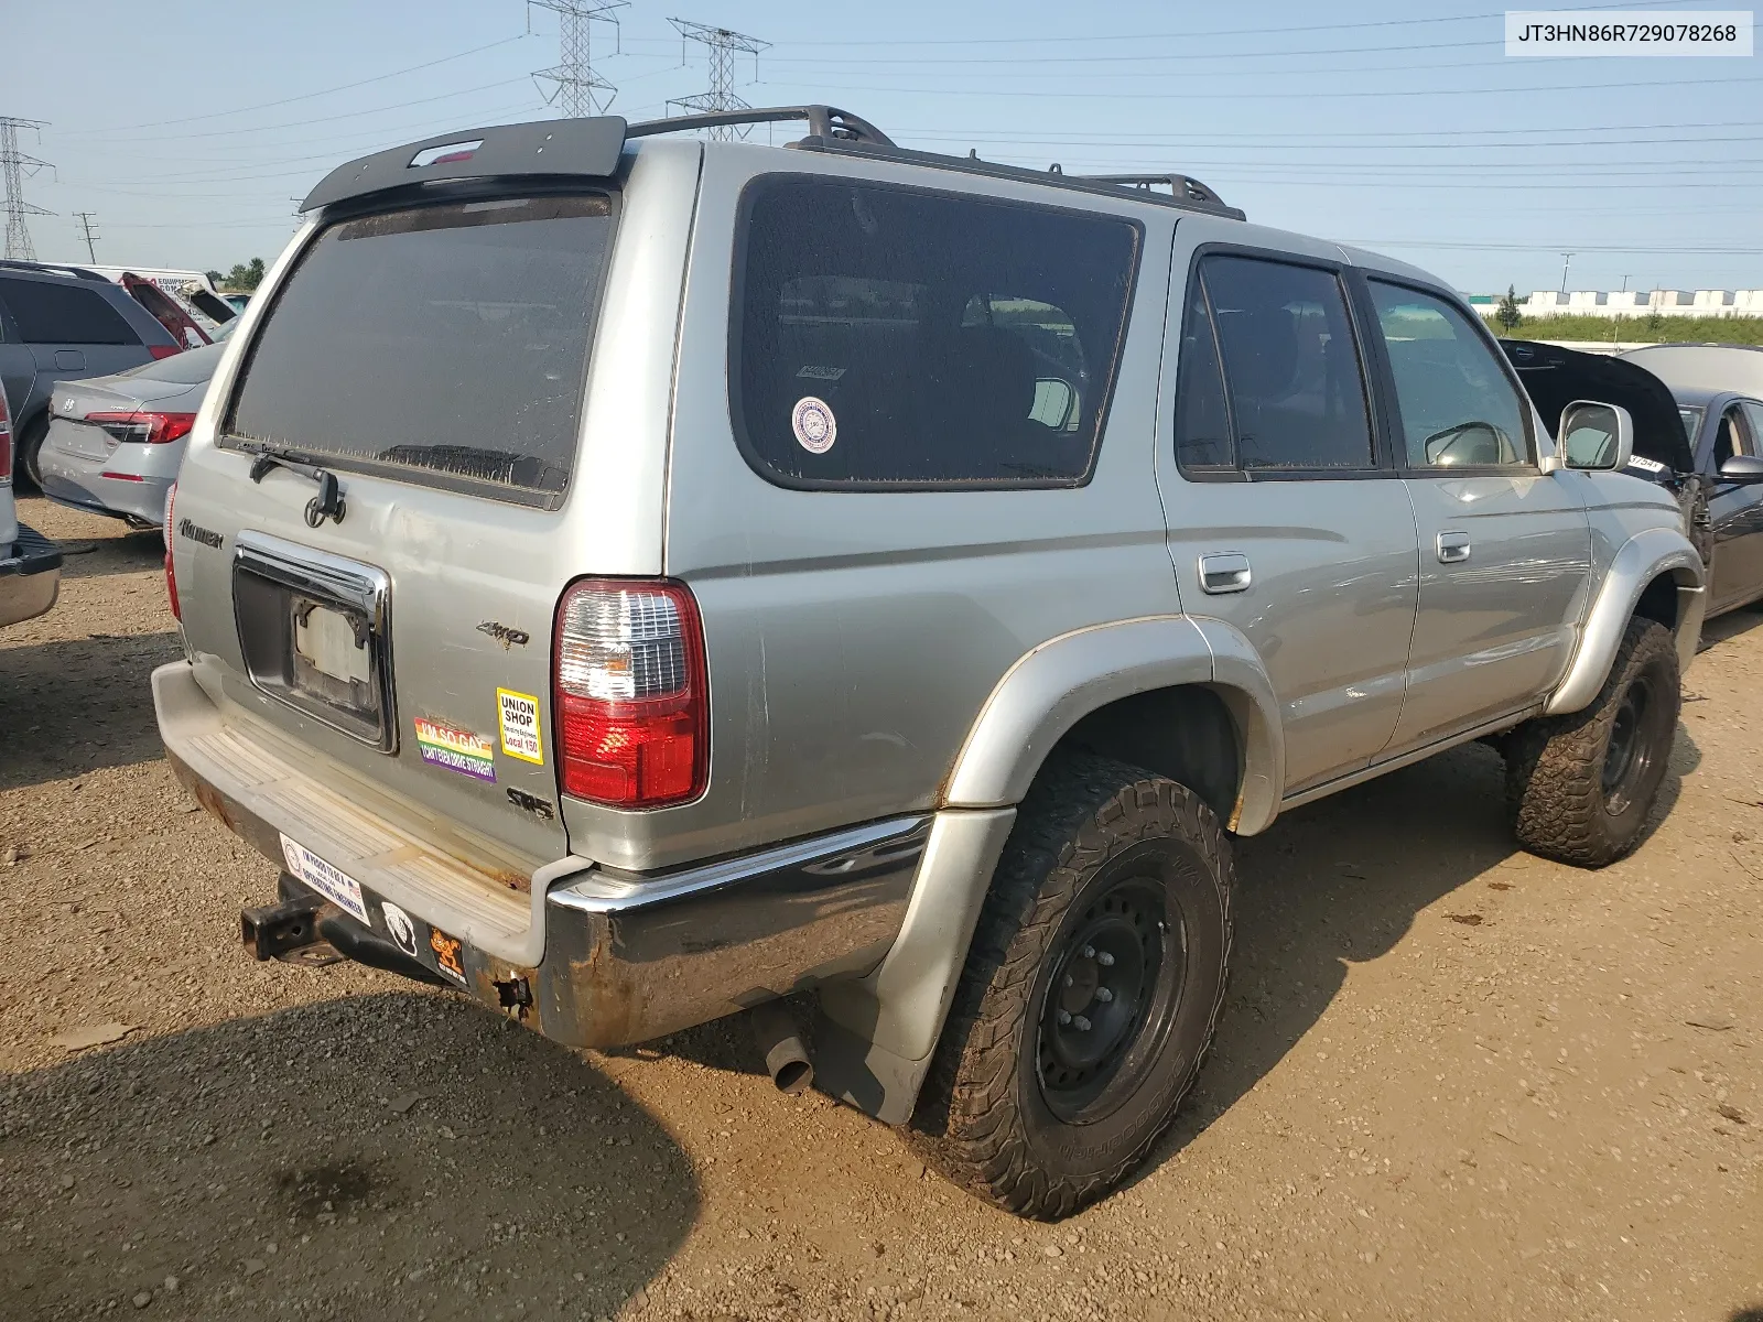
[[[1514,712],[1573,656],[1590,590],[1580,486],[1543,474],[1534,411],[1439,293],[1365,282],[1419,531],[1409,691],[1387,756]]]

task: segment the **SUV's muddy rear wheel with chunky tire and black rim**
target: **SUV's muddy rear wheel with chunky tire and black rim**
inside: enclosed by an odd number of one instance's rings
[[[908,1128],[926,1165],[1037,1220],[1114,1190],[1206,1059],[1234,881],[1224,828],[1192,790],[1109,758],[1056,754],[1017,813]],[[1109,948],[1121,954],[1104,961]],[[1123,985],[1107,1005],[1090,992],[1093,1040],[1068,1036],[1074,969],[1079,996],[1090,977],[1102,978],[1090,987]],[[1104,1040],[1112,1045],[1100,1063],[1072,1066],[1072,1042],[1091,1051]]]

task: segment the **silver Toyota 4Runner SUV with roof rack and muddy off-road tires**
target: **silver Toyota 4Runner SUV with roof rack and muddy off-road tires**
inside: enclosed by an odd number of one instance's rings
[[[153,675],[284,869],[257,957],[568,1045],[758,1006],[779,1082],[1053,1218],[1201,1068],[1232,836],[1484,739],[1525,848],[1636,843],[1701,561],[1627,414],[1557,448],[1425,271],[827,108],[480,129],[305,210]]]

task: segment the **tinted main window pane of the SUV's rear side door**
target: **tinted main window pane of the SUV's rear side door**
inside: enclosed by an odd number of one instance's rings
[[[1340,279],[1313,266],[1213,256],[1201,261],[1201,280],[1224,356],[1236,465],[1372,467],[1365,375]]]

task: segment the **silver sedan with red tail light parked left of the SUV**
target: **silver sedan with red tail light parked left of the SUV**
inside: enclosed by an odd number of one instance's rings
[[[220,353],[220,344],[208,344],[58,386],[37,451],[42,494],[134,527],[159,527]]]

